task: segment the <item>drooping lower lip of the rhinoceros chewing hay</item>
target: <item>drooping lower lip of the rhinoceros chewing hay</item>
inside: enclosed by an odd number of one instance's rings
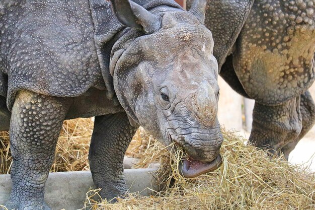
[[[178,166],[179,172],[185,178],[194,178],[216,170],[222,164],[222,157],[218,155],[213,161],[206,163],[192,159],[182,160]]]

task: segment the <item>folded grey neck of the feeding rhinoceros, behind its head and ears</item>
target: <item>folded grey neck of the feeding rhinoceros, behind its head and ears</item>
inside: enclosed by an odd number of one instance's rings
[[[154,14],[166,11],[182,10],[181,7],[173,0],[135,0],[133,2],[141,5]],[[122,25],[118,21],[113,13],[110,2],[90,0],[90,9],[94,23],[94,39],[100,68],[105,81],[106,89],[108,90],[108,97],[112,98],[115,95],[113,77],[110,74],[109,67],[112,48],[118,40],[129,40],[121,38],[126,36],[126,33],[130,29],[126,28],[126,26]]]

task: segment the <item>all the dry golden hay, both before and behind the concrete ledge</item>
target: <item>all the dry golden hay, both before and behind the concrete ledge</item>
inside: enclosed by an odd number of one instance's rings
[[[93,129],[91,119],[65,121],[59,137],[52,171],[88,170],[88,148]],[[141,158],[137,167],[159,161],[156,178],[162,192],[143,197],[128,194],[115,204],[96,202],[97,191],[87,196],[92,209],[315,209],[315,175],[288,165],[282,157],[270,159],[263,151],[246,146],[244,139],[223,132],[222,166],[194,179],[178,175],[180,153],[170,152],[143,129],[135,134],[127,155]],[[9,137],[0,135],[0,172],[11,163]],[[5,164],[7,161],[7,164]]]

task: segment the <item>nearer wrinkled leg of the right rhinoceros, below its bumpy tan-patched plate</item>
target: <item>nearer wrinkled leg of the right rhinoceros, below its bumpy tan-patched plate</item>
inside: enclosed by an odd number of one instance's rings
[[[270,149],[271,153],[280,152],[301,133],[300,97],[278,106],[255,102],[252,127],[251,143],[259,148]]]

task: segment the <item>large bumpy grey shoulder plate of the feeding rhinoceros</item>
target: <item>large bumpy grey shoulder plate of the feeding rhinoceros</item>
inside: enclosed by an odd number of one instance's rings
[[[16,2],[3,9],[0,30],[9,108],[22,89],[59,97],[105,89],[89,2]]]

